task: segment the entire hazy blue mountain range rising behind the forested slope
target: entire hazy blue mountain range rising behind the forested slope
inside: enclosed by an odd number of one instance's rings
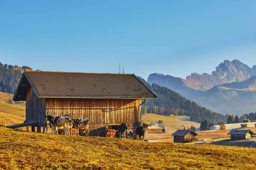
[[[256,65],[250,68],[237,59],[224,60],[212,74],[192,73],[182,79],[154,73],[147,82],[170,88],[222,114],[241,116],[256,110]]]

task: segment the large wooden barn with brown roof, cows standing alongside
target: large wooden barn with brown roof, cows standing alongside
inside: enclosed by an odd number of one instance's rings
[[[45,115],[88,118],[89,135],[105,136],[105,128],[127,123],[134,132],[141,121],[141,105],[156,99],[134,74],[94,74],[48,71],[23,73],[14,101],[26,101],[26,122],[41,132]],[[135,135],[135,133],[134,133]]]

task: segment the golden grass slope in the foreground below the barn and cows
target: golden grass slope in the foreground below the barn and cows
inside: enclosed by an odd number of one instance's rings
[[[0,129],[0,169],[246,169],[256,150],[246,147],[151,143]]]

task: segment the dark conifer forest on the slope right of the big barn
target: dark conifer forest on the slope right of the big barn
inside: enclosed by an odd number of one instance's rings
[[[143,78],[138,78],[158,96],[158,99],[147,100],[143,106],[143,113],[155,113],[164,116],[190,116],[190,121],[198,123],[204,120],[212,122],[212,119],[215,119],[216,123],[226,122],[226,116],[204,108],[169,88],[156,84],[149,85]]]

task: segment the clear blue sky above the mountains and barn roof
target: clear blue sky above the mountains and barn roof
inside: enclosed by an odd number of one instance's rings
[[[0,62],[43,71],[185,78],[256,64],[255,0],[0,0]]]

